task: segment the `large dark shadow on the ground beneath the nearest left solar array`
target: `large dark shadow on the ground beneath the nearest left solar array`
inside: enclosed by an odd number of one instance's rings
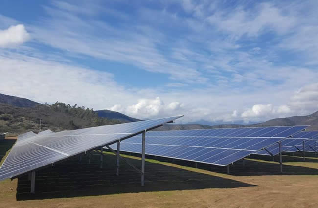
[[[128,158],[140,168],[141,161]],[[116,156],[106,154],[103,168],[99,168],[99,155],[93,155],[91,164],[83,157],[70,159],[54,167],[36,172],[35,194],[29,194],[27,176],[18,179],[17,200],[47,199],[76,196],[107,195],[149,191],[195,190],[205,188],[237,188],[255,186],[239,181],[184,170],[158,163],[145,164],[145,186],[141,176],[125,162],[120,162],[120,175],[116,176]]]

